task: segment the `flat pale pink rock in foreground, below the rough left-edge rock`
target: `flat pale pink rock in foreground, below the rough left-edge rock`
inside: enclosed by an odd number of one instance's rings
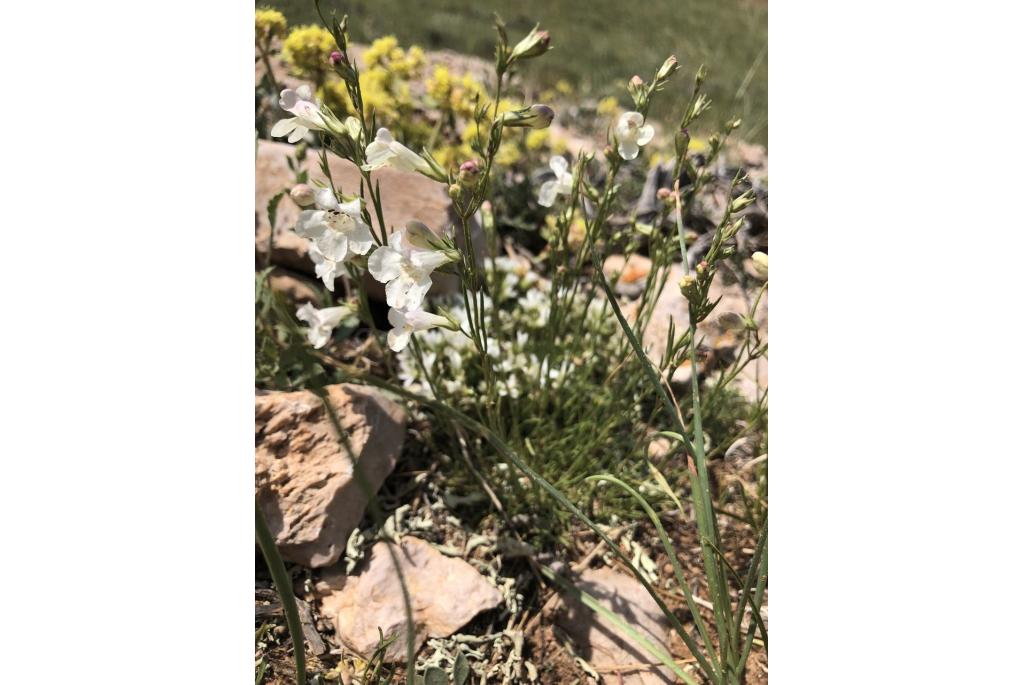
[[[389,543],[375,544],[355,575],[343,569],[317,583],[322,613],[334,623],[335,636],[348,649],[369,657],[380,635],[395,636],[386,660],[406,657],[406,608]],[[447,637],[480,611],[502,601],[498,590],[462,559],[446,557],[428,543],[404,538],[394,547],[413,603],[416,649],[427,638]]]

